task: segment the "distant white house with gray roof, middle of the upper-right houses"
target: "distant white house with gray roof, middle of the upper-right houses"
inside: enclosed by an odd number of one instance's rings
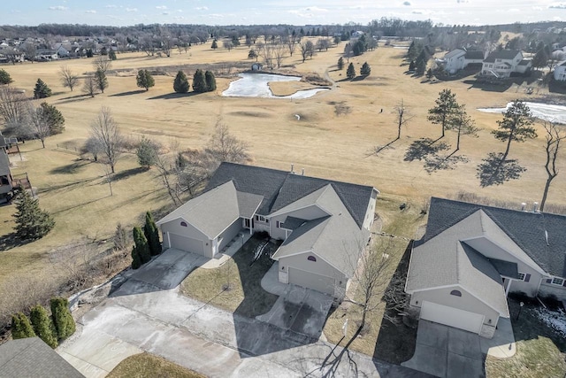
[[[481,74],[501,79],[511,76],[511,73],[526,73],[531,67],[532,61],[524,59],[520,50],[498,50],[484,59]]]

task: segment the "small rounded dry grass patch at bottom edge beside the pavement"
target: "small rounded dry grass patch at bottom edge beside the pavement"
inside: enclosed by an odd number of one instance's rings
[[[203,374],[149,353],[135,354],[124,359],[106,376],[108,378],[205,378]]]

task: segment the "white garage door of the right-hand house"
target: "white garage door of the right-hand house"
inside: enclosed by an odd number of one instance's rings
[[[421,319],[479,334],[484,315],[424,301],[421,307]]]

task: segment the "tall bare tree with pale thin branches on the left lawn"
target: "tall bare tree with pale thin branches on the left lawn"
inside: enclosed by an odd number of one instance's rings
[[[118,124],[111,114],[110,108],[103,106],[96,116],[96,120],[90,125],[90,135],[102,147],[102,154],[106,163],[111,167],[111,173],[114,173],[114,167],[118,161],[123,142],[123,136],[120,134]]]

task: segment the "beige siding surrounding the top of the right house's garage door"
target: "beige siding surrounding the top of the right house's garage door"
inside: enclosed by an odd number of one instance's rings
[[[460,290],[460,292],[462,292],[462,297],[450,295],[450,292],[454,289]],[[497,324],[497,320],[499,320],[499,312],[496,312],[493,308],[480,301],[477,297],[473,297],[466,290],[457,286],[417,291],[410,297],[410,305],[415,307],[420,308],[423,301],[437,303],[439,305],[447,305],[469,312],[481,313],[486,316],[484,324],[495,325]],[[491,320],[491,323],[489,320]]]

